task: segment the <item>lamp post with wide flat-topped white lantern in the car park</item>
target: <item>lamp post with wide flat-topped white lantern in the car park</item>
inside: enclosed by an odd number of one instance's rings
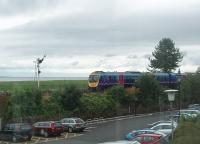
[[[171,109],[171,123],[172,123],[172,141],[173,141],[173,134],[174,134],[174,123],[173,123],[173,115],[172,115],[172,109],[173,109],[173,101],[175,100],[175,93],[178,90],[170,89],[170,90],[165,90],[164,92],[167,93],[168,100],[170,102],[170,109]]]

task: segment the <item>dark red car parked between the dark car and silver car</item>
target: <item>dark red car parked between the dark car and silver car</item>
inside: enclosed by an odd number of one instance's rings
[[[64,128],[60,121],[37,122],[33,125],[34,135],[49,137],[50,135],[60,135]]]

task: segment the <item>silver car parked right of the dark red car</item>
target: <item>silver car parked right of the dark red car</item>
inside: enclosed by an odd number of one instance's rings
[[[68,132],[79,132],[86,128],[86,123],[80,118],[64,118],[61,120],[64,130]]]

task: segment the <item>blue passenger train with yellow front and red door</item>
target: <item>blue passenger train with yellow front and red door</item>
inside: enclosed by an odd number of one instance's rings
[[[90,90],[103,90],[114,85],[134,87],[137,79],[147,73],[141,72],[103,72],[95,71],[89,75],[88,87]],[[177,85],[176,73],[152,73],[161,85],[175,88]]]

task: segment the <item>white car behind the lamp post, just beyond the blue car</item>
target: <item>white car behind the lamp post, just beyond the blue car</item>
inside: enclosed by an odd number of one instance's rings
[[[175,130],[176,129],[176,125],[172,126],[172,123],[159,123],[153,127],[151,127],[150,129],[159,131],[161,133],[164,133],[166,135],[169,135],[172,133],[172,129]]]

